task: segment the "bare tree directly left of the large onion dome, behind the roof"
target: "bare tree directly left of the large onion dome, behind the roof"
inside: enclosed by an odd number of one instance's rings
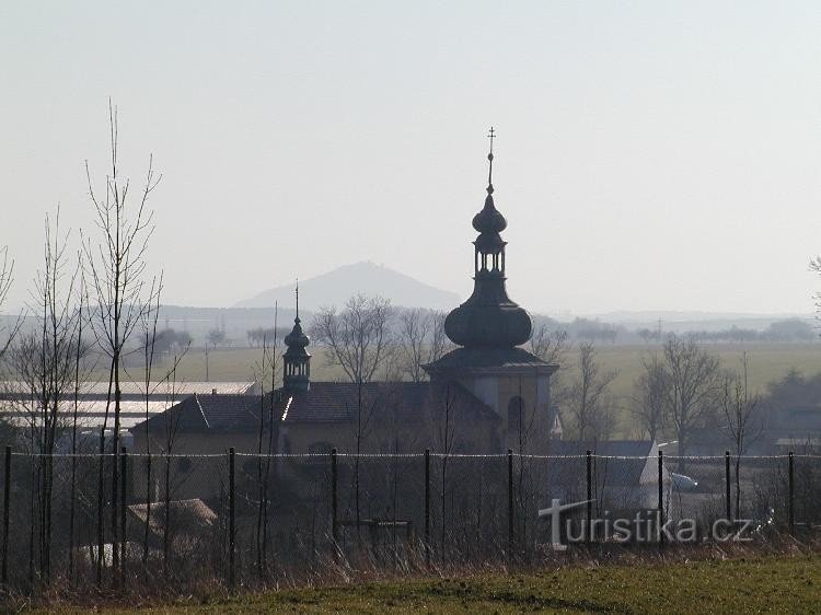
[[[396,334],[397,359],[401,371],[410,382],[426,380],[423,365],[444,355],[450,340],[444,334],[442,312],[430,312],[421,308],[405,310],[400,314]]]

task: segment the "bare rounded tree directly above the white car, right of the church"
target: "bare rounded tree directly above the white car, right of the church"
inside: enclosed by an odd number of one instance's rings
[[[667,413],[679,440],[679,469],[683,472],[692,432],[717,403],[719,361],[695,341],[675,335],[667,338],[662,349],[668,374]]]

